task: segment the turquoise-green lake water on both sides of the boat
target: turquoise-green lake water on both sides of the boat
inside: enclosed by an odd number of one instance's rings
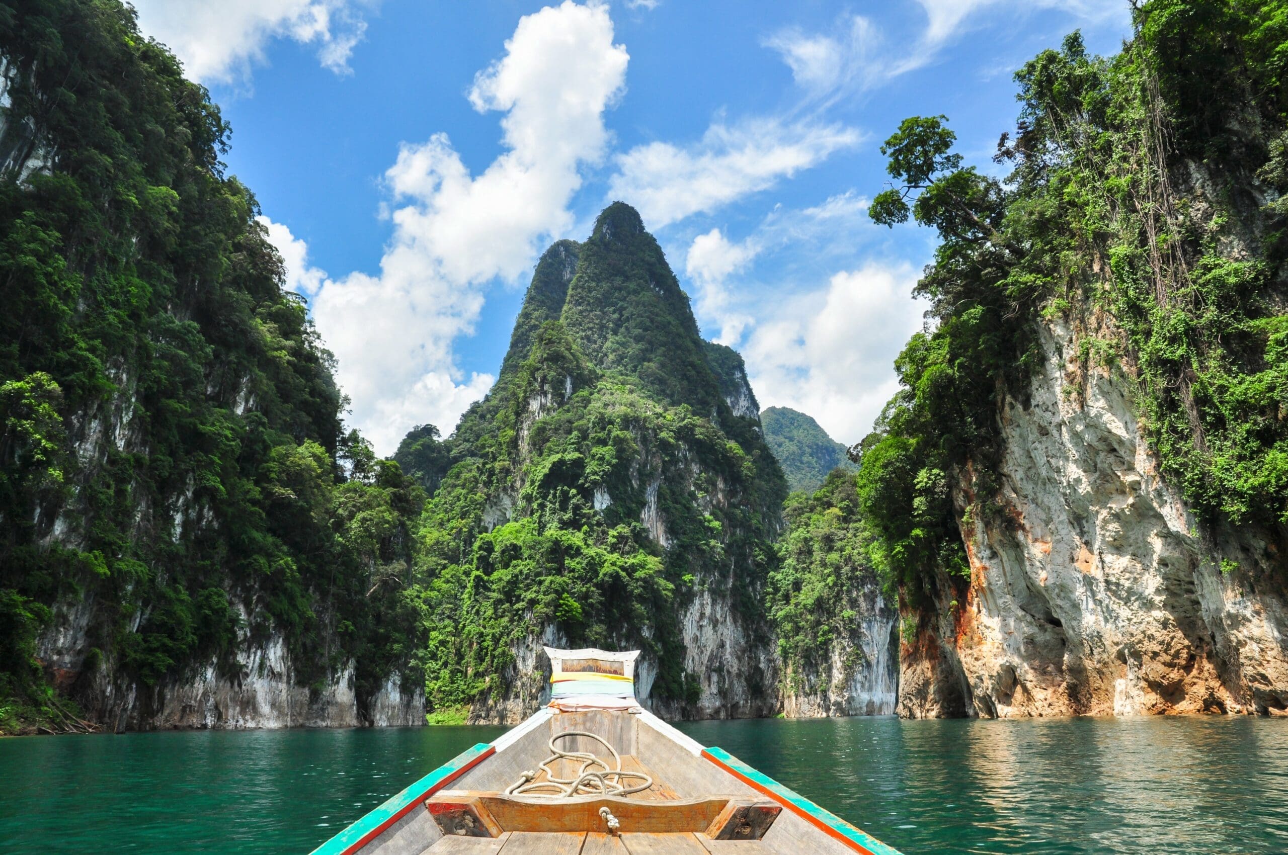
[[[1288,721],[680,725],[908,855],[1288,852]],[[504,728],[0,739],[3,852],[308,852]]]

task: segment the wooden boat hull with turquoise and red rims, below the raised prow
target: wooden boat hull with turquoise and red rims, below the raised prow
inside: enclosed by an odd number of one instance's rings
[[[654,785],[622,797],[537,798],[505,789],[549,755],[553,735],[590,731],[648,770]],[[603,749],[585,737],[571,751]],[[620,829],[605,827],[600,809]],[[721,748],[649,712],[542,709],[390,797],[313,855],[899,855]]]

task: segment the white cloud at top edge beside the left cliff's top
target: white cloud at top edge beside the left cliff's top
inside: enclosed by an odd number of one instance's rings
[[[133,0],[139,27],[167,45],[193,80],[236,82],[264,62],[274,39],[317,49],[318,62],[349,72],[367,24],[365,0]]]

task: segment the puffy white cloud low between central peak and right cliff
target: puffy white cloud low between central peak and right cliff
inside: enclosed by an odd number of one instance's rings
[[[909,264],[869,261],[757,324],[743,357],[760,406],[809,413],[846,444],[863,439],[898,389],[894,357],[922,324],[916,282]]]

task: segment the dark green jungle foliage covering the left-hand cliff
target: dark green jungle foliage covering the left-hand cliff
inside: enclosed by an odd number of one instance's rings
[[[146,715],[269,634],[372,691],[413,644],[422,493],[344,434],[219,109],[117,0],[0,3],[0,725],[84,726],[36,659],[59,605],[90,615],[72,698]]]

